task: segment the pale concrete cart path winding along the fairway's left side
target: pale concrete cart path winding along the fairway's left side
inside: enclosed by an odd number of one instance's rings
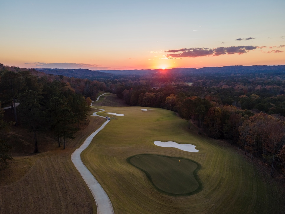
[[[97,98],[97,100],[99,99],[99,97]],[[101,110],[99,112],[105,111],[103,109],[99,110]],[[98,112],[93,113],[93,116],[103,117],[96,115],[96,113]],[[99,133],[99,131],[101,131],[105,127],[105,125],[107,125],[107,123],[110,121],[111,120],[107,120],[106,122],[104,122],[103,125],[101,125],[99,129],[97,129],[88,138],[86,138],[83,144],[78,149],[76,149],[71,155],[71,161],[73,162],[74,166],[79,171],[79,173],[81,174],[83,180],[86,182],[87,186],[92,192],[92,195],[94,196],[97,205],[97,214],[114,214],[113,206],[106,192],[103,190],[103,188],[95,179],[95,177],[91,174],[91,172],[87,169],[87,167],[83,164],[80,154],[84,149],[86,149],[89,146],[94,136],[97,133]]]

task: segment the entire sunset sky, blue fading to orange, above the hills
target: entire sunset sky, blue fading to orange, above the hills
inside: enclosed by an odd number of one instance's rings
[[[285,64],[284,0],[0,0],[0,63],[132,70]]]

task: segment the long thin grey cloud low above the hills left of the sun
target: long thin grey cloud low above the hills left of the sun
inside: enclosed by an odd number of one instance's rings
[[[44,63],[44,62],[34,62],[25,63],[31,64],[34,68],[64,68],[64,69],[90,69],[90,70],[104,70],[109,69],[109,67],[101,67],[100,65],[84,64],[84,63]]]

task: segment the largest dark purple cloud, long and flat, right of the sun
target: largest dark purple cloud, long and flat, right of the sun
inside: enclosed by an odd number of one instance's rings
[[[176,58],[176,57],[201,57],[201,56],[219,56],[224,54],[243,54],[250,50],[259,48],[258,46],[230,46],[230,47],[219,47],[219,48],[182,48],[175,50],[167,50],[166,57]],[[177,53],[182,52],[182,53]]]

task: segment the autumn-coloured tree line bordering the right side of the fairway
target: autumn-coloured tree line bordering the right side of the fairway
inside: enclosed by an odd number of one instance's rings
[[[204,132],[211,138],[225,139],[243,148],[251,159],[260,158],[264,164],[271,166],[271,175],[277,168],[284,172],[285,118],[273,111],[267,114],[241,108],[243,99],[238,101],[238,105],[233,105],[234,100],[231,105],[227,102],[223,104],[223,94],[219,94],[219,97],[218,94],[211,96],[209,90],[206,87],[179,83],[160,88],[132,85],[130,89],[121,84],[116,87],[116,94],[131,106],[160,107],[175,111],[188,121],[189,128],[192,121],[198,127],[198,134]],[[236,93],[244,95],[244,92]],[[257,94],[248,95],[249,97],[243,95],[240,98],[276,99],[280,105],[285,99],[284,95],[270,98]],[[228,94],[227,99],[230,96]],[[271,102],[265,102],[264,105],[273,106]]]

